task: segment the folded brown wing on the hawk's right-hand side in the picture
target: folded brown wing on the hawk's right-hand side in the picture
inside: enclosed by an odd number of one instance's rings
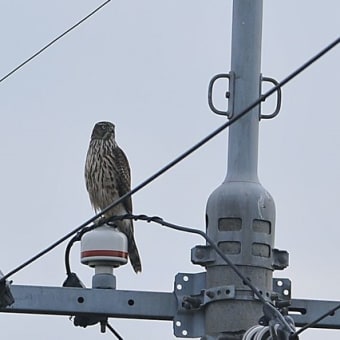
[[[130,166],[129,161],[121,148],[117,146],[114,148],[113,152],[116,160],[116,170],[118,173],[118,192],[121,197],[131,190]],[[132,213],[131,196],[124,200],[124,206],[129,213]]]

